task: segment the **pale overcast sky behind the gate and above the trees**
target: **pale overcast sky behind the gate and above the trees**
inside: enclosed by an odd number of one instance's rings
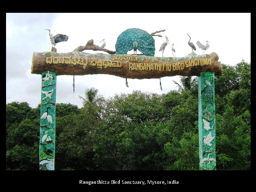
[[[42,75],[31,74],[31,66],[33,52],[51,50],[49,32],[44,29],[50,29],[53,36],[58,33],[68,35],[68,41],[55,46],[58,53],[67,53],[85,46],[90,39],[98,46],[105,39],[105,48],[115,51],[117,37],[129,28],[148,33],[166,30],[158,33],[162,37],[153,36],[155,57],[162,56],[159,48],[166,41],[165,36],[170,44],[165,48],[164,57],[172,57],[172,43],[176,57],[190,54],[188,33],[195,45],[197,41],[202,44],[209,41],[206,54],[217,53],[218,61],[223,64],[235,65],[242,60],[251,62],[250,13],[6,13],[6,103],[26,101],[33,108],[40,103]],[[202,54],[198,47],[194,52]],[[128,53],[133,54],[133,51]],[[133,90],[162,94],[177,90],[172,80],[179,82],[180,78],[161,78],[161,91],[159,79],[128,79],[129,87],[126,87],[126,80],[114,75],[76,75],[73,98],[73,76],[59,75],[56,102],[71,103],[80,108],[82,100],[78,96],[84,97],[85,90],[91,87],[98,89],[98,94],[105,98],[129,94]]]

